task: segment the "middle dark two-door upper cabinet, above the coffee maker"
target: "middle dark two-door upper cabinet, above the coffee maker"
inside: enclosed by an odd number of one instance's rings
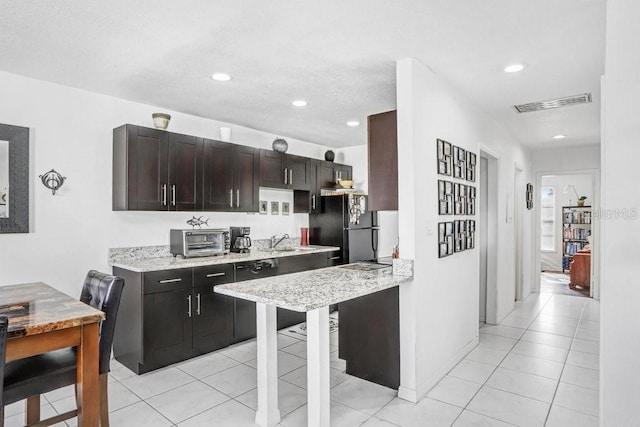
[[[204,210],[257,212],[258,149],[204,140]]]

